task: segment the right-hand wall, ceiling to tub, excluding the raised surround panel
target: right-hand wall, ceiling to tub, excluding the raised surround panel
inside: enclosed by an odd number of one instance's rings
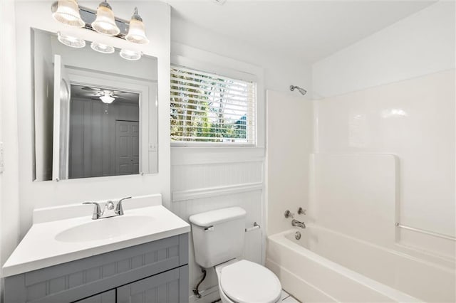
[[[437,2],[313,65],[316,151],[398,156],[398,221],[455,235],[455,3]],[[354,218],[353,218],[354,219]],[[454,241],[399,229],[454,257]]]

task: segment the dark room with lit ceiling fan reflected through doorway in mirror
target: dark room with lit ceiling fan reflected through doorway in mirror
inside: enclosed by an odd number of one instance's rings
[[[136,92],[71,85],[68,179],[140,173],[139,101]],[[110,161],[87,175],[85,160],[96,161],[97,151]]]

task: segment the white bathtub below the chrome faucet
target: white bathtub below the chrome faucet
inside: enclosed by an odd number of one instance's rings
[[[382,248],[317,225],[269,236],[266,267],[301,302],[455,302],[454,260]]]

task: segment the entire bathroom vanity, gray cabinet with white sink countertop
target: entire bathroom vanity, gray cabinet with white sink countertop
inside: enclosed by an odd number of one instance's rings
[[[190,226],[161,203],[131,208],[150,198],[137,200],[118,218],[92,220],[90,206],[87,216],[51,221],[61,209],[38,211],[4,265],[4,302],[187,302]]]

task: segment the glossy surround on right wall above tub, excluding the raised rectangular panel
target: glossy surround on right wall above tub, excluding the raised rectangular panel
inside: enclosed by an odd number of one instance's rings
[[[455,237],[455,70],[316,102],[318,152],[398,157],[397,220]],[[455,257],[455,242],[398,229],[404,245]]]

